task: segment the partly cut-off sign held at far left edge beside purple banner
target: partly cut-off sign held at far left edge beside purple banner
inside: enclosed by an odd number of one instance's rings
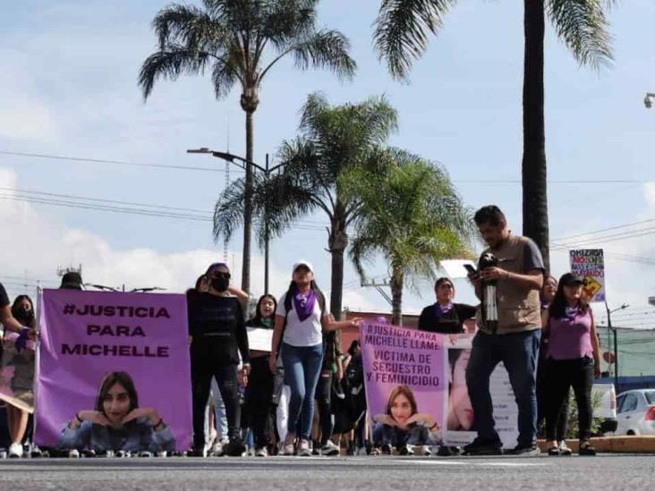
[[[0,400],[22,411],[34,412],[34,342],[16,349],[18,334],[6,331],[0,360]]]

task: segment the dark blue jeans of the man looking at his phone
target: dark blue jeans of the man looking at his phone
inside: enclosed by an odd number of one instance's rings
[[[489,394],[491,372],[503,362],[518,406],[518,444],[532,445],[537,438],[537,395],[535,392],[541,330],[512,334],[486,334],[478,331],[466,367],[466,385],[475,414],[473,428],[478,438],[499,443],[493,405]]]

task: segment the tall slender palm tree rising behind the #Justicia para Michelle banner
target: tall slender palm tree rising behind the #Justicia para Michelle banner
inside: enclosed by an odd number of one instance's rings
[[[234,85],[241,88],[245,111],[246,161],[253,162],[253,114],[262,80],[282,58],[293,56],[301,70],[327,68],[351,78],[356,64],[350,43],[337,30],[317,29],[319,0],[202,0],[203,7],[171,4],[152,21],[159,49],[140,69],[139,85],[147,99],[158,79],[183,74],[211,74],[217,98]],[[266,55],[271,59],[265,61]],[[243,210],[242,289],[250,291],[252,165],[246,165]]]

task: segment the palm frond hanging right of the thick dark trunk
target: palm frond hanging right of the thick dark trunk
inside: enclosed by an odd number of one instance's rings
[[[549,0],[547,11],[557,36],[581,65],[599,69],[611,63],[612,38],[605,9],[608,0]]]

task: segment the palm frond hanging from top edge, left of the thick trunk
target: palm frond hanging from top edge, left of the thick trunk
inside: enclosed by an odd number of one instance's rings
[[[428,46],[428,32],[436,34],[455,0],[383,0],[375,21],[373,40],[379,59],[391,75],[407,76],[414,60]]]

